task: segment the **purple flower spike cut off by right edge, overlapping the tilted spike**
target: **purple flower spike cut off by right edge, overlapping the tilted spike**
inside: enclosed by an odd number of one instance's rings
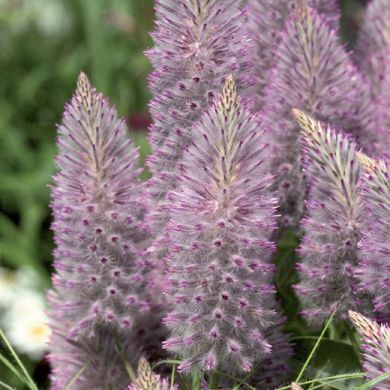
[[[390,181],[389,163],[375,161],[363,154],[361,196],[366,223],[360,243],[357,275],[362,291],[373,297],[374,310],[381,321],[390,322]]]

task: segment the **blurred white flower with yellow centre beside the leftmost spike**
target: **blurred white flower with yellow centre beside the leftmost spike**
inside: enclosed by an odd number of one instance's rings
[[[4,316],[5,333],[10,342],[32,359],[39,359],[47,350],[50,336],[47,322],[45,298],[31,289],[19,291]]]

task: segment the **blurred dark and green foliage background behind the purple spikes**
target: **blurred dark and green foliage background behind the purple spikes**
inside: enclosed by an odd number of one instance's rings
[[[364,3],[340,3],[347,45],[353,44]],[[0,265],[32,267],[42,292],[50,284],[52,261],[48,185],[54,172],[55,124],[84,70],[127,118],[143,161],[149,152],[145,131],[150,72],[143,52],[151,45],[152,24],[152,0],[0,0]],[[296,277],[291,249],[295,240],[286,233],[276,261],[283,270],[277,284],[290,317],[289,330],[296,337],[299,364],[312,340],[289,287]],[[351,345],[325,339],[321,348],[325,351],[319,351],[312,369],[318,367],[323,374],[358,369]],[[23,361],[44,388],[45,361]],[[1,366],[0,379],[22,388]]]

